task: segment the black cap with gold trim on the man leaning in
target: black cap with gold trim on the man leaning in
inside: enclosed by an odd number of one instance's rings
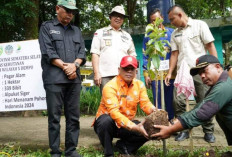
[[[197,75],[199,70],[207,67],[209,64],[219,63],[219,60],[213,55],[203,55],[196,60],[196,67],[191,68],[190,74]]]

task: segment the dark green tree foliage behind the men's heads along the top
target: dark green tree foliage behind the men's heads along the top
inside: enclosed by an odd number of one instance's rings
[[[38,38],[42,22],[53,19],[56,0],[1,0],[0,43]],[[146,25],[148,0],[77,0],[79,13],[74,24],[84,33],[109,24],[108,14],[116,5],[123,5],[130,18],[124,27]],[[193,18],[218,18],[230,15],[231,0],[176,0]],[[145,13],[144,13],[145,12]]]

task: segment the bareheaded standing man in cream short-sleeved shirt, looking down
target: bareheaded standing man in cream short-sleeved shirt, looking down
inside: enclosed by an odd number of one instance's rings
[[[177,65],[177,71],[180,68],[182,60],[185,60],[189,67],[192,68],[195,66],[195,60],[205,55],[207,50],[211,55],[217,57],[217,51],[214,46],[214,38],[209,30],[208,25],[200,20],[194,20],[189,18],[184,10],[180,6],[173,6],[168,11],[168,18],[172,25],[176,26],[177,29],[172,33],[171,37],[171,59],[170,59],[170,67],[168,74],[165,78],[166,85],[170,84],[170,79],[174,68]],[[196,90],[196,102],[200,103],[206,91],[208,90],[208,86],[204,85],[200,76],[193,76],[194,86]],[[178,117],[182,113],[186,112],[186,104],[184,95],[176,96],[176,88],[174,88],[173,101],[175,116]],[[210,121],[204,123],[202,125],[203,132],[205,133],[204,139],[207,142],[214,143],[215,137],[213,135],[214,132],[214,124],[212,123],[213,117]],[[180,132],[175,140],[183,141],[186,138],[189,138],[189,132],[183,131]]]

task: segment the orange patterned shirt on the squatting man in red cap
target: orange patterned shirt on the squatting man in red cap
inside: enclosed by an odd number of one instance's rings
[[[109,114],[117,127],[131,129],[135,125],[131,120],[136,115],[138,103],[146,114],[150,114],[155,108],[142,81],[133,79],[128,87],[118,75],[104,86],[96,119],[102,114]]]

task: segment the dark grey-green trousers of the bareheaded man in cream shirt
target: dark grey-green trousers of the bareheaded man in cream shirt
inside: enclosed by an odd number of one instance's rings
[[[206,92],[209,90],[209,87],[203,84],[201,77],[196,75],[193,77],[193,82],[196,90],[197,96],[195,96],[195,100],[197,103],[202,102],[205,97]],[[173,107],[175,111],[175,117],[180,116],[182,113],[186,112],[186,97],[184,94],[177,96],[176,87],[173,90]],[[214,123],[213,117],[205,122],[202,125],[204,133],[213,133],[214,132]]]

